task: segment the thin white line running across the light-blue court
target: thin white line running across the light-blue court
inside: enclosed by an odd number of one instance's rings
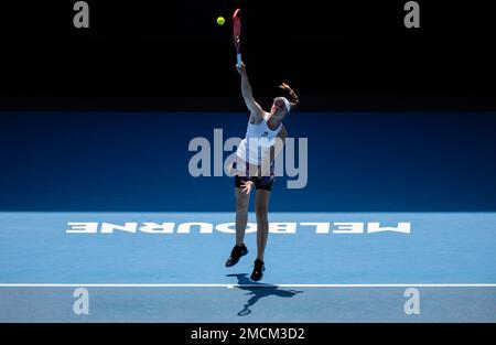
[[[496,283],[395,283],[395,284],[139,284],[139,283],[0,283],[0,288],[496,288]]]

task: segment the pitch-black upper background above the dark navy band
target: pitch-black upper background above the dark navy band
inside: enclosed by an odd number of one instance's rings
[[[258,97],[284,80],[308,110],[496,108],[495,2],[419,1],[418,30],[405,2],[88,1],[90,29],[76,30],[73,1],[11,1],[0,106],[241,110],[229,19],[241,7]]]

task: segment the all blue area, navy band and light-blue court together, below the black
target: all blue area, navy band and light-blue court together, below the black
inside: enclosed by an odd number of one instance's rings
[[[308,184],[277,177],[252,282],[255,214],[226,268],[233,179],[187,172],[192,138],[246,115],[2,114],[0,321],[495,322],[495,118],[290,118]]]

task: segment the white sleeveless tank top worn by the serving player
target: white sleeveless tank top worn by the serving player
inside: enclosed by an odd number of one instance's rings
[[[250,123],[246,129],[245,139],[236,151],[236,154],[250,164],[260,164],[270,154],[270,148],[274,144],[278,133],[281,131],[282,122],[276,130],[270,130],[267,126],[269,114],[266,112],[260,123]]]

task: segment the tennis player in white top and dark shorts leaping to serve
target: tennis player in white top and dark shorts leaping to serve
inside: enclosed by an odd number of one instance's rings
[[[281,152],[288,131],[282,120],[299,105],[298,96],[284,83],[280,88],[287,90],[291,100],[285,97],[273,99],[270,111],[265,111],[255,101],[248,80],[245,64],[236,65],[241,75],[241,95],[250,115],[245,139],[236,151],[235,195],[236,195],[236,245],[226,261],[231,267],[239,258],[248,254],[244,244],[248,223],[248,205],[250,192],[256,190],[255,212],[257,215],[257,259],[255,260],[251,280],[258,281],[263,276],[263,252],[269,236],[269,196],[274,177],[274,158]]]

